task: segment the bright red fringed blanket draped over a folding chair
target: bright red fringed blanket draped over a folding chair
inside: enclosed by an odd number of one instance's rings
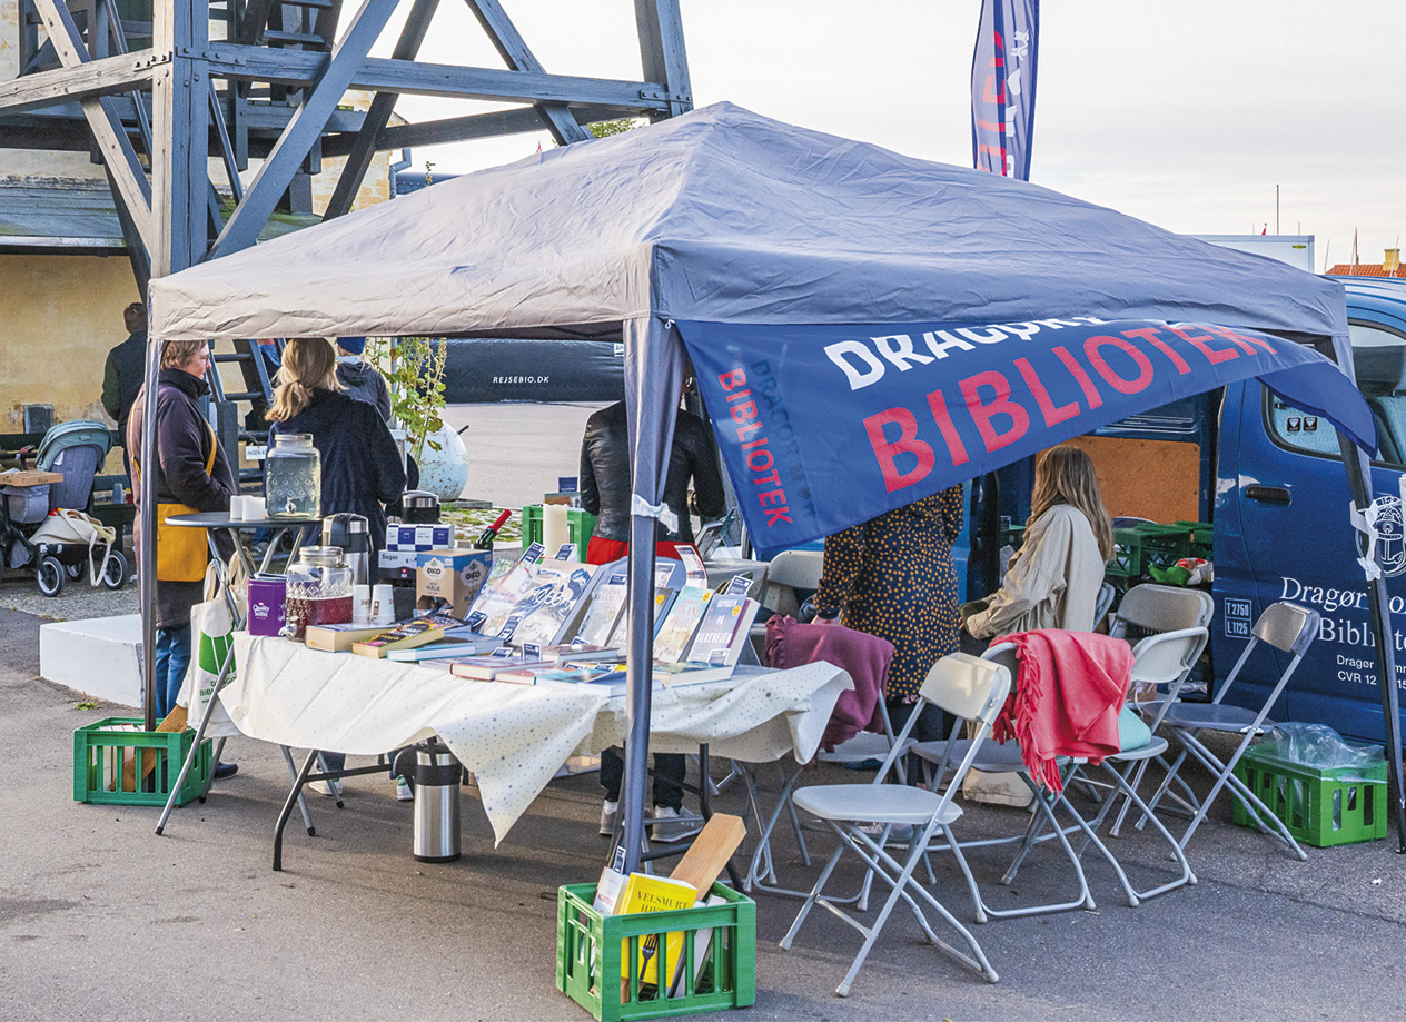
[[[1040,628],[995,640],[1014,642],[1021,669],[995,718],[1001,742],[1015,738],[1035,783],[1064,789],[1056,756],[1099,763],[1118,752],[1118,714],[1132,680],[1133,651],[1091,631]]]

